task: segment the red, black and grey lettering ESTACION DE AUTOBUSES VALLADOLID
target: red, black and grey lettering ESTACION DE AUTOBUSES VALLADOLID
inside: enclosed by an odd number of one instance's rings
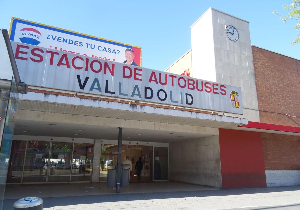
[[[28,60],[28,58],[23,57],[23,55],[28,55],[31,61],[36,63],[41,63],[45,59],[45,55],[50,56],[49,58],[49,65],[55,65],[57,67],[66,67],[68,69],[75,69],[75,70],[84,70],[84,71],[92,71],[94,73],[103,73],[104,75],[110,75],[115,76],[115,63],[113,62],[106,62],[101,59],[95,59],[95,58],[88,58],[83,56],[70,56],[68,57],[68,54],[66,53],[59,53],[57,51],[52,50],[43,50],[41,48],[32,48],[29,50],[29,46],[17,44],[16,46],[16,53],[15,58],[20,60]],[[55,58],[56,56],[56,58]],[[28,56],[27,56],[28,57]],[[54,59],[55,58],[55,59]],[[54,63],[54,60],[58,60],[57,63]],[[149,70],[151,71],[151,70]],[[118,70],[119,72],[119,70]],[[174,75],[174,74],[167,74],[167,73],[159,73],[157,71],[152,71],[149,78],[143,77],[143,69],[139,67],[131,67],[128,65],[122,65],[122,77],[125,79],[134,79],[136,81],[143,81],[147,80],[149,83],[156,83],[158,85],[171,85],[174,87],[175,85],[182,88],[182,89],[188,89],[188,90],[197,90],[199,92],[205,91],[207,93],[211,94],[217,94],[217,95],[226,95],[226,85],[217,84],[214,82],[208,82],[203,80],[198,80],[194,78],[187,78],[181,75]],[[78,85],[81,90],[85,88],[85,85],[87,84],[89,77],[81,78],[79,75],[77,75],[78,79]],[[115,92],[109,91],[108,87],[109,80],[106,80],[105,84],[105,92],[109,94],[115,94]],[[90,91],[98,90],[99,92],[102,92],[101,84],[97,78],[94,79],[93,84],[90,87]],[[144,98],[151,99],[153,97],[153,90],[151,87],[144,87]],[[119,95],[127,95],[125,93],[122,93],[122,83],[119,84]],[[167,92],[163,89],[158,90],[158,99],[160,101],[165,101],[167,98]],[[171,98],[172,98],[172,91],[170,92]],[[141,98],[140,88],[135,85],[131,97],[138,96]],[[186,94],[186,103],[188,105],[191,105],[193,102],[193,96],[190,94]],[[190,102],[188,102],[188,97],[191,98]],[[171,99],[171,102],[178,103],[175,100]],[[181,93],[181,102],[183,102],[183,97]]]

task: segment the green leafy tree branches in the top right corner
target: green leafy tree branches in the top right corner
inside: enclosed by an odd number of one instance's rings
[[[296,20],[296,25],[294,26],[295,30],[300,29],[300,0],[294,0],[291,5],[284,4],[283,8],[288,10],[288,16],[283,16],[277,13],[277,10],[274,10],[274,15],[280,16],[280,20],[282,20],[284,23],[288,21],[289,19]],[[295,40],[291,43],[292,45],[297,44],[300,42],[300,34],[297,35]]]

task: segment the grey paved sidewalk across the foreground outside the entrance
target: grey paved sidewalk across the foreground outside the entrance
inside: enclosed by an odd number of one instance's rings
[[[300,186],[48,197],[44,210],[300,209]],[[15,199],[4,201],[12,209]]]

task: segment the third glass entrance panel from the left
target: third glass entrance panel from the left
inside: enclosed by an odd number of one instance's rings
[[[52,142],[48,182],[70,182],[73,143]]]

